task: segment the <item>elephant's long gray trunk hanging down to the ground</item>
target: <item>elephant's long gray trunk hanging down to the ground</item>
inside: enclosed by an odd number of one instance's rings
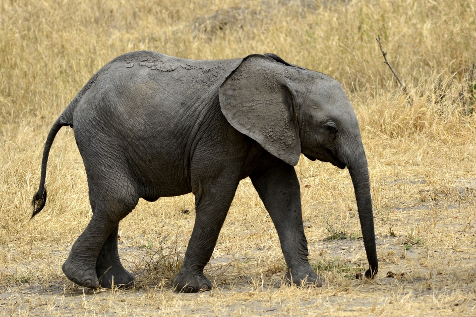
[[[365,272],[365,277],[373,277],[378,271],[377,248],[375,245],[375,229],[373,224],[372,198],[370,196],[370,182],[368,176],[367,159],[360,140],[347,147],[352,153],[347,155],[345,163],[351,174],[352,183],[357,200],[357,211],[362,230],[363,245],[370,268]],[[357,145],[357,147],[356,147]]]

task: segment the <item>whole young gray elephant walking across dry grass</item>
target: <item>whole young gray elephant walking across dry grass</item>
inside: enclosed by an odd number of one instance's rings
[[[308,263],[299,154],[349,168],[367,259],[377,273],[367,161],[357,118],[340,84],[274,54],[228,60],[180,59],[155,52],[121,55],[95,74],[53,125],[34,213],[46,201],[48,154],[61,126],[74,128],[93,216],[63,264],[74,283],[130,285],[119,261],[119,221],[139,198],[195,195],[196,218],[178,290],[212,284],[204,276],[235,196],[250,177],[278,231],[287,279],[321,285]]]

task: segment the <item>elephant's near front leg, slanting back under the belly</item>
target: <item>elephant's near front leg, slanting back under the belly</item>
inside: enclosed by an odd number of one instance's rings
[[[212,288],[203,268],[210,261],[237,187],[238,181],[234,186],[200,185],[200,192],[195,194],[196,217],[192,235],[182,267],[173,282],[177,291],[189,293]]]

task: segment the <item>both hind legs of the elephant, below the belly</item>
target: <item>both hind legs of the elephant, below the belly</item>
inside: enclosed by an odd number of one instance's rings
[[[73,244],[62,270],[74,283],[93,289],[100,285],[110,288],[113,276],[115,285],[130,284],[134,278],[120,264],[117,239],[119,221],[139,200],[135,187],[126,177],[109,181],[105,177],[101,184],[88,178],[88,184],[93,216]]]

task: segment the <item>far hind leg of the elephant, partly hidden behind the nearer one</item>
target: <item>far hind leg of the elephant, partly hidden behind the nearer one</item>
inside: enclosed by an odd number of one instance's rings
[[[119,225],[109,234],[96,260],[96,274],[101,287],[131,286],[134,276],[120,263],[118,252]]]

